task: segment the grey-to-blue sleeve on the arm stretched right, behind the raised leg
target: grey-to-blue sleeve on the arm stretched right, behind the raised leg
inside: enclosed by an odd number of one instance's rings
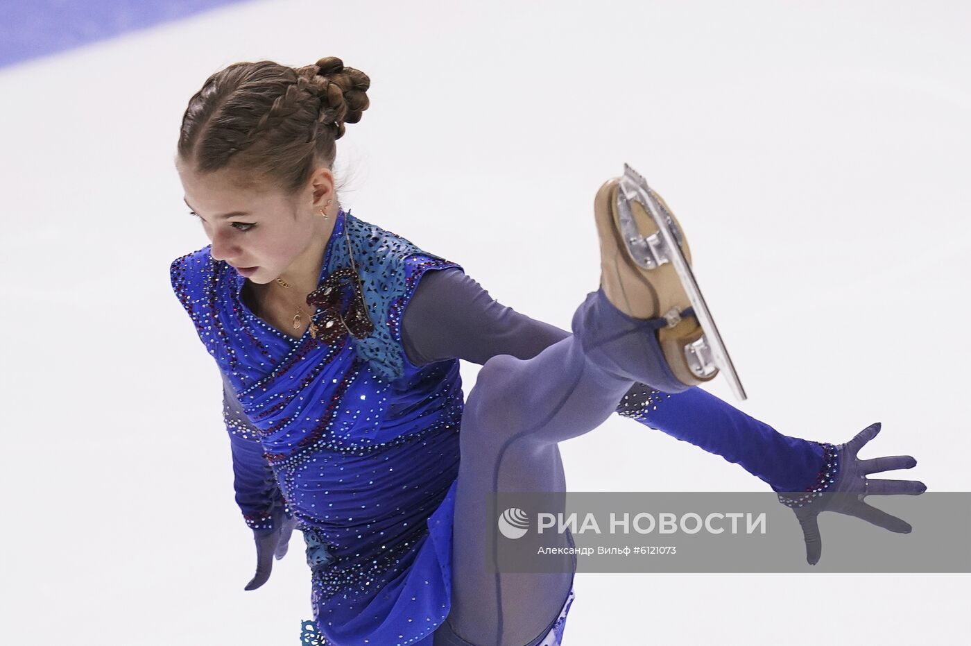
[[[447,358],[485,364],[531,358],[569,332],[500,304],[461,269],[425,276],[402,315],[402,344],[416,365]],[[700,388],[679,393],[635,383],[617,413],[740,464],[776,491],[801,492],[824,463],[816,442],[789,437]]]

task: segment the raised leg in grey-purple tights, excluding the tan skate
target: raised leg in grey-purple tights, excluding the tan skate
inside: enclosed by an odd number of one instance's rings
[[[564,491],[556,442],[605,421],[635,378],[646,383],[670,378],[651,324],[620,313],[602,290],[587,296],[573,328],[573,335],[536,357],[492,357],[468,396],[448,621],[455,634],[475,646],[523,646],[542,636],[573,578],[571,569],[488,572],[487,532],[496,531],[486,517],[488,493]],[[552,512],[562,510],[560,504]]]

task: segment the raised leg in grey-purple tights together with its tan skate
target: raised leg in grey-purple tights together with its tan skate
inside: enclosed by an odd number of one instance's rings
[[[624,178],[637,180],[626,172]],[[565,574],[572,583],[575,564],[552,574],[491,572],[485,546],[497,540],[498,527],[488,513],[489,494],[561,492],[554,489],[551,447],[600,425],[633,383],[679,393],[714,378],[718,367],[730,368],[723,352],[716,353],[718,365],[713,363],[688,307],[689,300],[697,300],[702,319],[710,318],[698,300],[689,257],[682,253],[684,235],[675,238],[678,222],[673,214],[658,214],[658,209],[668,210],[655,208],[659,196],[647,191],[643,178],[628,184],[608,181],[594,198],[601,287],[574,314],[573,335],[526,360],[490,358],[469,393],[462,416],[452,609],[446,623],[452,636],[466,643],[535,646],[558,614],[567,591]],[[621,199],[619,187],[633,193]],[[669,258],[674,267],[665,264]],[[708,323],[704,331],[717,336],[713,322]],[[552,511],[564,511],[562,498],[558,507]]]

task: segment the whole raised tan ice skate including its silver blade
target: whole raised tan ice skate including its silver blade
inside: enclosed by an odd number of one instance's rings
[[[663,318],[657,343],[671,372],[686,386],[722,370],[746,399],[718,328],[691,273],[685,232],[667,204],[627,164],[594,198],[600,237],[600,286],[614,307],[635,319]]]

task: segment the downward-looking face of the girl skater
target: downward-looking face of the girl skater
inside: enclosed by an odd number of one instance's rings
[[[319,168],[304,189],[286,195],[273,187],[244,187],[242,176],[231,171],[198,175],[184,163],[176,165],[185,204],[212,243],[213,258],[237,269],[256,267],[246,275],[259,284],[304,273],[315,260],[319,265],[321,241],[336,221],[333,202],[324,207],[334,199],[329,169]],[[330,218],[324,220],[320,208]]]

